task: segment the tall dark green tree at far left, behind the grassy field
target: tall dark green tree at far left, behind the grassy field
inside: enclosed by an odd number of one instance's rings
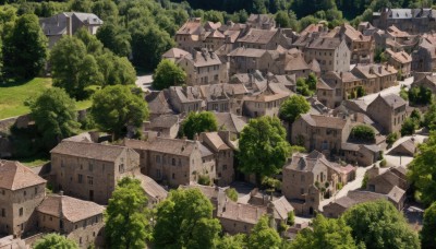
[[[44,69],[47,38],[36,15],[20,16],[3,43],[4,70],[9,76],[31,79]]]

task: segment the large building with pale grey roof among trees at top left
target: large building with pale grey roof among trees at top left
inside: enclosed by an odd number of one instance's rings
[[[85,28],[89,34],[97,34],[102,21],[93,13],[62,12],[50,17],[39,19],[39,25],[48,37],[48,47],[52,48],[62,36],[72,36],[80,28]]]

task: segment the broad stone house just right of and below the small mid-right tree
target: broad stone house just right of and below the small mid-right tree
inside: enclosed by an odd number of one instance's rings
[[[347,142],[350,132],[349,118],[304,114],[292,123],[291,143],[307,151],[335,153]]]

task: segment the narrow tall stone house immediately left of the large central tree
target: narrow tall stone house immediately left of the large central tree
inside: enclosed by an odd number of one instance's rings
[[[203,132],[199,141],[214,153],[216,185],[229,186],[234,180],[233,158],[235,145],[230,140],[230,132]]]

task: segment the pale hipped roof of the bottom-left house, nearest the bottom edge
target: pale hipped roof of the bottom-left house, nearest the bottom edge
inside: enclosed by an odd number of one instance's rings
[[[37,212],[55,217],[62,217],[71,223],[76,223],[98,214],[102,214],[105,208],[90,201],[83,201],[66,195],[50,194],[36,208]]]

